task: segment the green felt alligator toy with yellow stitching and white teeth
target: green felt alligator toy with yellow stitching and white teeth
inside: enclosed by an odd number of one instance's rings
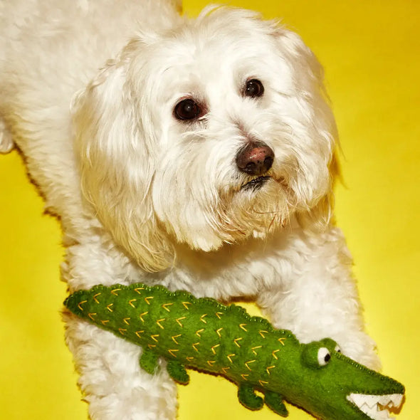
[[[214,299],[138,283],[80,290],[64,304],[140,345],[140,366],[149,374],[164,357],[181,384],[189,382],[186,367],[224,375],[238,384],[238,399],[248,409],[265,402],[287,416],[288,401],[324,420],[383,420],[404,395],[399,382],[345,357],[330,338],[302,344],[292,332]]]

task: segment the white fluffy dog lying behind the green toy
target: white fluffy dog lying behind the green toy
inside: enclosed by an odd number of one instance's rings
[[[0,148],[63,224],[70,291],[161,283],[253,297],[308,342],[378,367],[332,223],[335,121],[295,33],[240,9],[164,0],[0,4]],[[65,315],[92,419],[174,419],[164,369]]]

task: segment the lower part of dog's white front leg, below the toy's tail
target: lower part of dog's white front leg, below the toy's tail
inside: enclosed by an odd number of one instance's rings
[[[66,341],[92,420],[174,420],[177,388],[162,366],[140,368],[140,347],[64,314]]]

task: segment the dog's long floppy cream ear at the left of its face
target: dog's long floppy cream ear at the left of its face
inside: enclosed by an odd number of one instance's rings
[[[126,74],[130,58],[107,63],[73,101],[75,153],[83,193],[115,242],[146,271],[173,253],[157,226],[151,199],[153,139],[145,138]]]

